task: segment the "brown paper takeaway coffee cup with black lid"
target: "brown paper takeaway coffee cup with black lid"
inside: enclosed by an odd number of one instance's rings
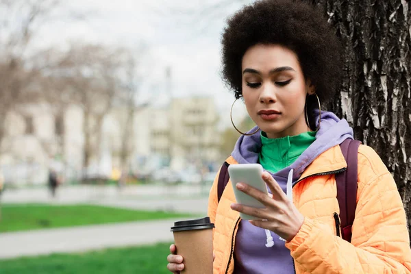
[[[212,229],[210,217],[175,222],[171,227],[177,254],[183,257],[186,274],[212,274]]]

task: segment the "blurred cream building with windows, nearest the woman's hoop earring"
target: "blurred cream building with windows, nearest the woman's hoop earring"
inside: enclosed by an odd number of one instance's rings
[[[198,170],[219,160],[219,114],[212,98],[174,98],[135,117],[138,172],[165,166],[175,171]]]

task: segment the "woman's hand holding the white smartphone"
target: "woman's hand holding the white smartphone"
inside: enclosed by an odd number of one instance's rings
[[[242,206],[239,203],[232,203],[231,208],[232,210],[257,217],[259,220],[249,222],[256,227],[269,229],[289,242],[299,232],[301,225],[303,225],[304,216],[297,210],[292,201],[288,199],[270,173],[264,171],[262,179],[264,179],[264,182],[266,182],[273,193],[272,197],[247,184],[238,183],[236,188],[256,198],[265,208],[251,208],[249,206]]]

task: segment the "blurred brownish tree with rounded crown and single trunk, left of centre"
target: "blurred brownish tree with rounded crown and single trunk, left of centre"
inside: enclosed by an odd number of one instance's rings
[[[65,90],[71,90],[71,100],[83,111],[84,171],[91,158],[99,159],[103,120],[121,95],[124,53],[124,49],[77,44],[58,62],[60,81],[64,81]]]

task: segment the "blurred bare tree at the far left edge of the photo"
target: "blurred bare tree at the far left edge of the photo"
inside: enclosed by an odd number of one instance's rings
[[[0,146],[8,112],[36,99],[27,98],[27,89],[38,75],[27,66],[27,47],[55,5],[57,1],[0,1]]]

